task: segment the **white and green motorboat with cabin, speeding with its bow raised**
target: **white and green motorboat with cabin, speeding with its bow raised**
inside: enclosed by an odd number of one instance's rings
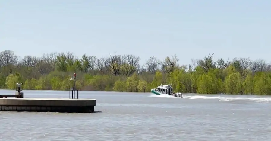
[[[158,86],[157,88],[153,88],[151,89],[151,92],[155,95],[171,95],[171,96],[174,96],[174,97],[180,97],[182,98],[182,93],[175,93],[173,91],[173,87],[170,85],[170,84],[167,84],[167,85],[160,85]]]

